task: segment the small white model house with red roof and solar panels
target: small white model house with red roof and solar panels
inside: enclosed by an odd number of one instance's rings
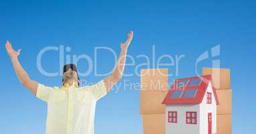
[[[164,98],[166,133],[216,133],[218,97],[210,75],[174,80]]]

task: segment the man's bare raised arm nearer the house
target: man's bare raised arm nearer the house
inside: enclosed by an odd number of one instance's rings
[[[133,31],[129,32],[126,42],[124,44],[121,43],[121,54],[119,56],[117,64],[115,65],[115,69],[113,73],[104,79],[105,85],[107,86],[107,92],[111,90],[111,88],[121,79],[123,75],[127,49],[132,39],[133,39]]]

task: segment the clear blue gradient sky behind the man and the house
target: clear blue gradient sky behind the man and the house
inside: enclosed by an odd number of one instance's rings
[[[94,59],[94,47],[108,46],[120,52],[127,31],[134,31],[129,48],[131,56],[164,54],[186,57],[180,61],[179,74],[174,78],[194,76],[196,58],[220,44],[222,68],[231,68],[233,89],[233,133],[255,130],[255,1],[1,1],[1,133],[42,134],[45,130],[47,106],[34,97],[17,79],[5,52],[5,40],[21,48],[20,62],[32,79],[48,86],[60,86],[61,76],[40,73],[36,57],[46,46],[72,48],[65,54],[86,54]],[[66,59],[66,58],[65,58]],[[65,60],[64,59],[64,60]],[[153,68],[151,58],[151,66]],[[199,67],[211,66],[212,59]],[[130,62],[129,60],[127,62]],[[135,59],[136,64],[145,60]],[[165,62],[170,62],[166,60]],[[113,56],[100,52],[97,70],[107,72],[114,67]],[[48,52],[42,66],[49,72],[58,71],[58,52]],[[176,72],[174,66],[162,66]],[[78,62],[81,72],[88,69],[84,60]],[[147,68],[141,66],[141,68]],[[133,73],[134,66],[125,68]],[[198,70],[200,71],[200,70]],[[103,77],[90,74],[81,77],[97,82]],[[139,82],[139,76],[123,77]],[[121,84],[123,81],[119,82]],[[99,100],[95,133],[142,133],[139,115],[139,90],[111,92]]]

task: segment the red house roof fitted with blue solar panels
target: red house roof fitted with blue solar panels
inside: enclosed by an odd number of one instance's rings
[[[211,75],[174,80],[174,84],[166,95],[166,98],[164,98],[162,104],[177,105],[202,103],[202,99],[204,98],[204,94],[206,94],[206,89],[210,82],[212,82]],[[213,86],[212,92],[214,93],[216,104],[218,105],[218,97]]]

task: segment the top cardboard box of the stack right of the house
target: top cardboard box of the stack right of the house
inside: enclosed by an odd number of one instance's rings
[[[231,88],[231,71],[225,68],[202,68],[202,75],[212,74],[214,88],[230,89]]]

